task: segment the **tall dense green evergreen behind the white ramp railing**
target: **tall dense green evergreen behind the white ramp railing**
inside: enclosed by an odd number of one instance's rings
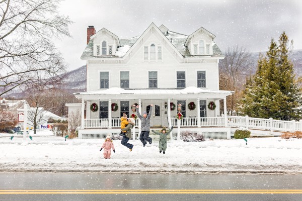
[[[241,115],[278,120],[299,120],[302,99],[296,85],[293,64],[288,59],[292,41],[285,32],[279,45],[272,39],[266,56],[260,55],[258,68],[246,89],[239,107]]]

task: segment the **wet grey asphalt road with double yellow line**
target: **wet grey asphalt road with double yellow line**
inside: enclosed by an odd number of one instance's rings
[[[0,173],[0,200],[301,201],[302,175]]]

